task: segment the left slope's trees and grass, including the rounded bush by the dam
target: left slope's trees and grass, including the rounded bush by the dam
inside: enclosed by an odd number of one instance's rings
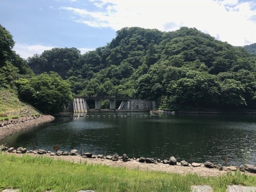
[[[69,83],[53,72],[35,75],[12,50],[12,35],[1,25],[0,37],[0,120],[38,114],[37,109],[51,114],[62,111],[72,98]]]

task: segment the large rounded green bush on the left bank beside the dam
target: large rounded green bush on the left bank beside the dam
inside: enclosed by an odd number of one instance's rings
[[[70,84],[54,72],[19,79],[17,86],[19,97],[43,113],[59,113],[72,98]]]

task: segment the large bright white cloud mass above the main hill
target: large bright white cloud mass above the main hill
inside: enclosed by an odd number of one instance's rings
[[[256,42],[256,5],[237,0],[90,0],[94,10],[62,6],[73,20],[97,28],[195,27],[232,45]],[[253,20],[254,19],[254,20]]]

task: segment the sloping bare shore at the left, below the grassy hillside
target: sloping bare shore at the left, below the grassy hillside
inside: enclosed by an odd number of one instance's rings
[[[41,115],[39,117],[19,117],[9,121],[0,122],[0,140],[8,135],[29,129],[38,124],[51,122],[55,117],[51,115]]]

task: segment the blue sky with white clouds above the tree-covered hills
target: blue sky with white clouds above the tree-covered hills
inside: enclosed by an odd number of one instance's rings
[[[0,25],[23,59],[53,47],[81,53],[123,27],[191,27],[234,46],[256,43],[255,0],[0,0]]]

